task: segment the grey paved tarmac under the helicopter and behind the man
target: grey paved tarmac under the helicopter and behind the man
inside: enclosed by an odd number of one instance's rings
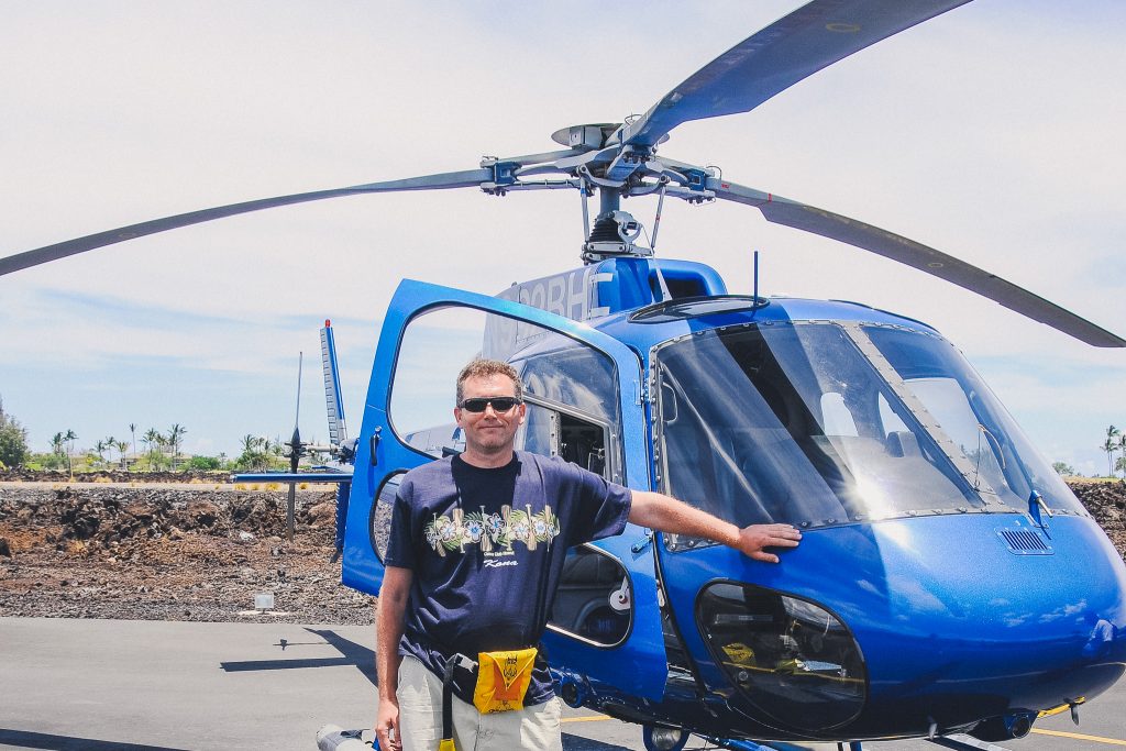
[[[312,751],[320,726],[374,719],[373,637],[361,626],[0,618],[0,749]],[[1052,717],[1008,748],[1126,746],[1124,706],[1120,685],[1083,709],[1080,728]],[[574,710],[564,722],[568,751],[644,748],[636,725]]]

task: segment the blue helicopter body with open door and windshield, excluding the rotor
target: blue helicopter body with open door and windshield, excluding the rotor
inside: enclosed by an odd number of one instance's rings
[[[465,304],[508,316],[486,327],[484,350],[548,406],[565,401],[557,364],[577,339],[624,346],[616,388],[637,409],[607,418],[619,421],[607,435],[644,456],[619,459],[614,476],[740,525],[803,530],[779,565],[632,525],[599,544],[617,566],[602,578],[626,579],[631,607],[595,598],[571,617],[560,594],[545,645],[569,701],[713,737],[918,736],[982,722],[1003,736],[1121,676],[1120,555],[933,329],[855,303],[727,295],[701,265],[656,269],[613,259],[494,303],[404,284],[367,400],[346,583],[377,592],[376,499],[406,468],[383,454],[399,338],[420,313]],[[521,337],[510,325],[521,316],[546,333]],[[565,430],[558,414],[553,429]],[[588,552],[572,571],[590,564]]]

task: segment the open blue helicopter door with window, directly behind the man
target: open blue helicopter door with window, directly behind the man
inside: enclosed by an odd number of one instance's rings
[[[622,484],[649,485],[641,367],[632,350],[520,303],[404,280],[379,336],[357,445],[346,584],[378,593],[400,479],[464,448],[453,417],[454,385],[479,356],[511,363],[524,382],[528,419],[518,448],[563,456]],[[466,534],[473,516],[464,515]],[[553,668],[660,699],[664,637],[646,542],[643,529],[627,525],[620,536],[569,552],[544,645]]]

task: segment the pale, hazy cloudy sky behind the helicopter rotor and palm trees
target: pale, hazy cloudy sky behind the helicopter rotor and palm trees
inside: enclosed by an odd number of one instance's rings
[[[239,200],[473,169],[645,111],[796,2],[0,0],[0,254]],[[1126,3],[976,0],[661,154],[957,256],[1126,334]],[[652,225],[655,200],[624,208]],[[735,205],[667,205],[658,254],[733,292],[844,298],[950,338],[1049,461],[1106,472],[1126,350],[1082,345]],[[571,191],[359,196],[143,238],[0,278],[0,397],[46,450],[187,427],[327,435],[332,319],[352,432],[395,285],[482,293],[579,266]]]

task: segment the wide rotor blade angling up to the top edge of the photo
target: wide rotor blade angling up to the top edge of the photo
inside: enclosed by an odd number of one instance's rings
[[[968,0],[813,0],[696,71],[626,126],[653,146],[681,123],[747,113],[822,68]]]

